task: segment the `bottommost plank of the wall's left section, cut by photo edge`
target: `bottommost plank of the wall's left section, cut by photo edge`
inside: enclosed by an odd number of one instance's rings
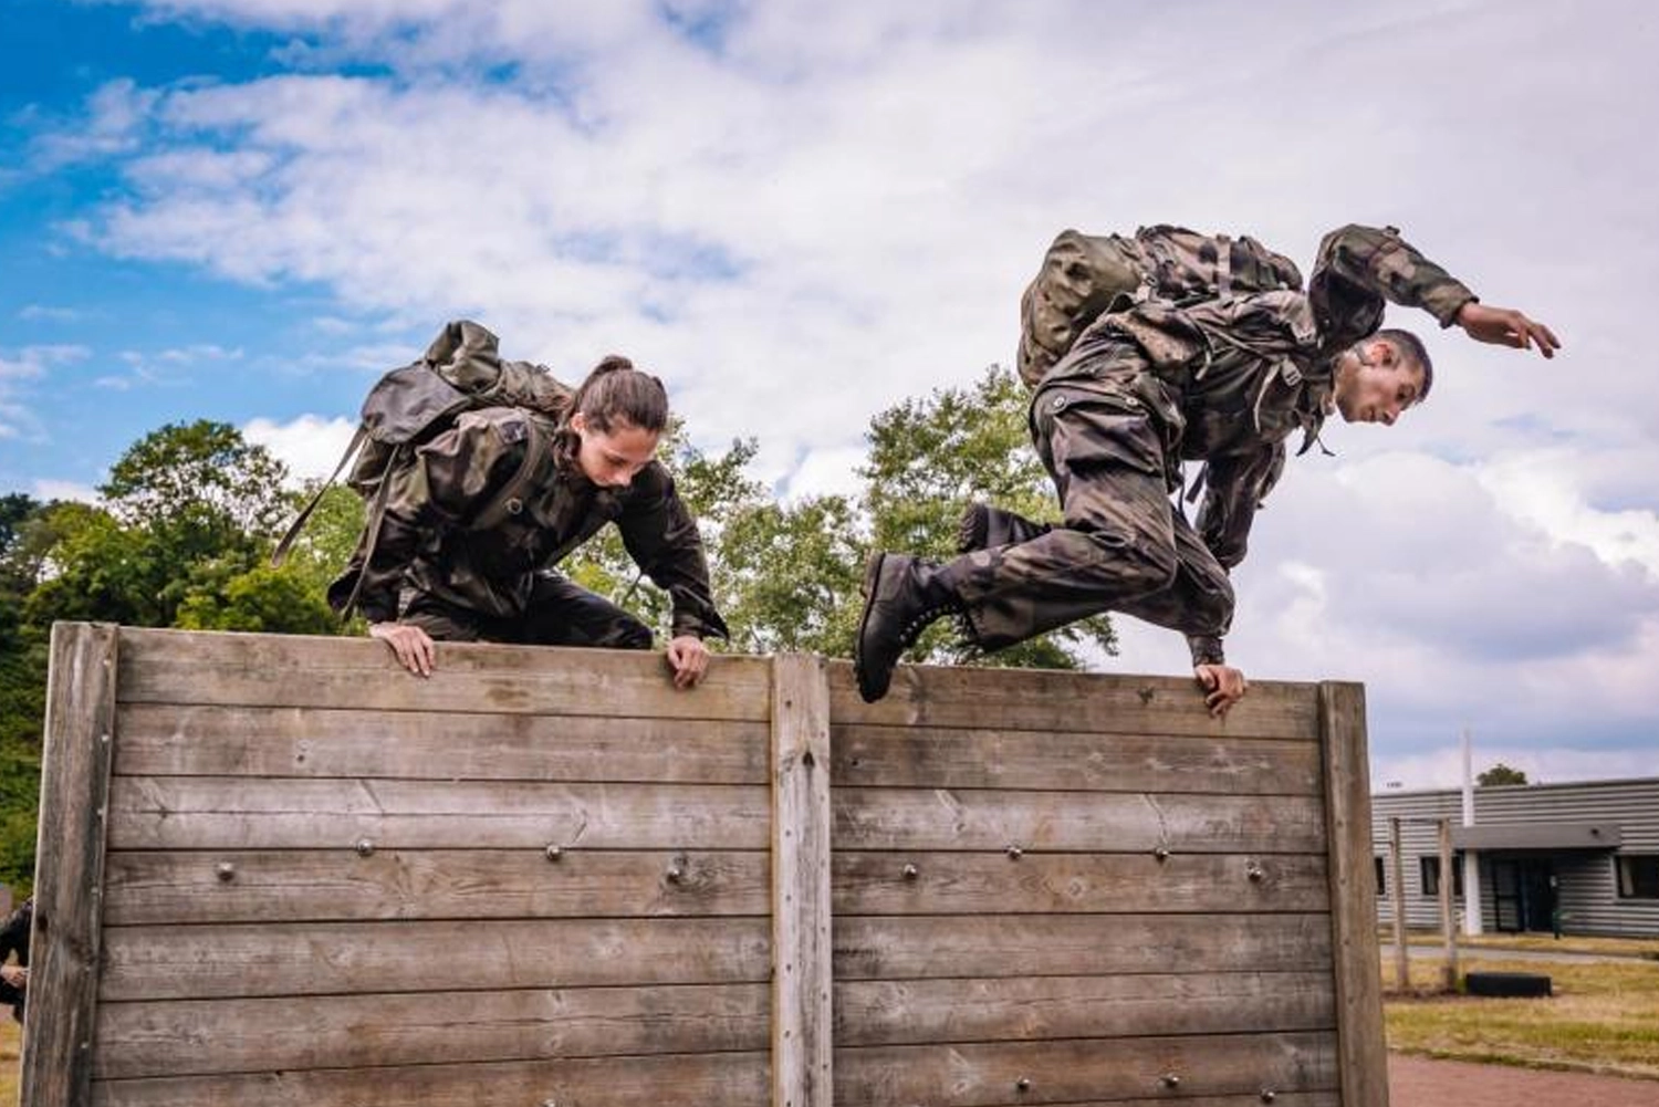
[[[760,1107],[766,1085],[765,1052],[662,1054],[100,1080],[91,1107]]]

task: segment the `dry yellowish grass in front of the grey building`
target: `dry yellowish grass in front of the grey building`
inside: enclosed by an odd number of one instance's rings
[[[1460,958],[1460,969],[1543,973],[1550,999],[1430,994],[1440,964],[1412,961],[1412,989],[1384,1002],[1389,1047],[1428,1057],[1533,1069],[1579,1069],[1659,1080],[1659,964],[1646,961],[1503,961]],[[1384,958],[1385,986],[1394,981]]]

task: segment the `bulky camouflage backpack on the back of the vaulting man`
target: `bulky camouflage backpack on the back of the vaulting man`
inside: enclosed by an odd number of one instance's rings
[[[1032,388],[1100,315],[1146,299],[1176,305],[1301,289],[1296,264],[1253,237],[1158,224],[1133,239],[1062,231],[1020,297],[1020,378]]]

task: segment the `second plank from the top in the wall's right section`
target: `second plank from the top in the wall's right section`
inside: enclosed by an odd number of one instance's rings
[[[838,785],[1321,795],[1319,745],[1234,735],[843,724]],[[119,767],[118,767],[119,768]]]

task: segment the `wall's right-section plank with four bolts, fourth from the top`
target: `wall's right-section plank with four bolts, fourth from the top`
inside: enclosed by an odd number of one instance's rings
[[[1327,911],[1329,896],[1319,855],[1178,853],[1163,861],[1150,853],[834,856],[839,916]]]

